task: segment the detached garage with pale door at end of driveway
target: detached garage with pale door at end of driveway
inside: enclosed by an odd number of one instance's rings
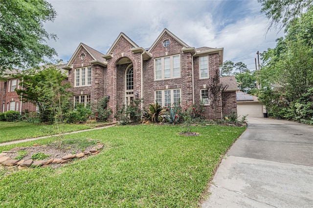
[[[238,91],[236,97],[238,118],[246,114],[248,114],[247,118],[263,117],[263,104],[258,101],[256,96]]]

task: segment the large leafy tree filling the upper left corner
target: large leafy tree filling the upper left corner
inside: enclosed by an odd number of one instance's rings
[[[46,40],[56,39],[44,29],[56,12],[45,0],[0,0],[0,75],[6,69],[33,68],[56,51]]]

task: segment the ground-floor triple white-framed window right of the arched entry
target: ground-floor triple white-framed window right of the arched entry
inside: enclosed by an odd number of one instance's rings
[[[178,92],[179,96],[177,96]],[[168,98],[170,99],[170,101],[167,100]],[[167,100],[167,103],[165,103],[165,100]],[[181,101],[180,88],[155,90],[155,102],[157,102],[163,107],[168,106],[168,104],[171,106],[173,103],[179,104],[180,101]]]

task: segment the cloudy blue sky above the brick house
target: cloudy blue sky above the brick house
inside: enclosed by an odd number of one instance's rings
[[[80,42],[106,53],[120,32],[143,48],[167,28],[191,47],[224,47],[224,61],[254,69],[256,52],[275,47],[283,31],[267,30],[257,0],[47,0],[58,13],[45,29],[48,41],[67,62]]]

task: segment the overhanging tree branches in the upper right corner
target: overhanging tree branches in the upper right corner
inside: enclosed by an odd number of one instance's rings
[[[313,6],[313,0],[258,0],[262,4],[261,12],[270,20],[268,30],[272,27],[282,29]]]

